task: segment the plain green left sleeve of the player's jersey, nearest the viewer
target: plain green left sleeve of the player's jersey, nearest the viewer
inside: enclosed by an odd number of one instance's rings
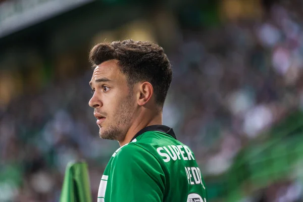
[[[163,200],[165,175],[152,154],[131,144],[125,146],[112,164],[110,202]]]

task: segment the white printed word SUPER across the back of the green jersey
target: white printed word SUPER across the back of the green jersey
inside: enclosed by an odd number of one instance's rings
[[[167,148],[168,147],[168,148]],[[157,148],[157,152],[161,157],[164,157],[164,162],[169,162],[171,159],[176,161],[177,159],[181,160],[181,157],[184,161],[194,160],[191,150],[188,146],[185,145],[168,145],[161,146]]]

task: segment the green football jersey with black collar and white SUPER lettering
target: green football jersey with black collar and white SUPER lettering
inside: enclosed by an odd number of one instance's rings
[[[190,148],[172,128],[147,126],[111,157],[98,202],[206,202],[207,189]]]

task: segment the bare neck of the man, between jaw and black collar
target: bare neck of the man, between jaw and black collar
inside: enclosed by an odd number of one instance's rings
[[[146,117],[146,116],[145,116]],[[120,146],[123,146],[130,142],[130,140],[143,128],[151,125],[162,125],[162,113],[159,113],[157,116],[154,116],[153,118],[143,118],[138,117],[129,130],[127,131],[125,138],[123,141],[119,141]]]

